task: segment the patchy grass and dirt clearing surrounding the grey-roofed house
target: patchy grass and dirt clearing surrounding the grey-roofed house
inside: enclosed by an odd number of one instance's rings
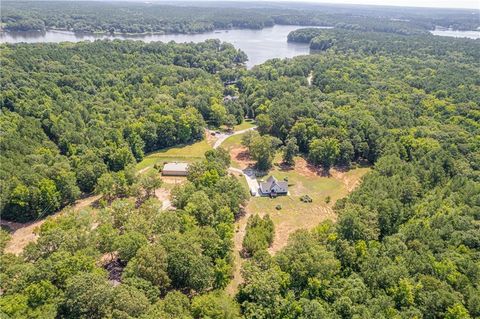
[[[324,176],[315,167],[297,157],[295,166],[285,168],[275,165],[269,175],[278,180],[288,179],[289,195],[277,198],[251,198],[247,211],[260,215],[270,214],[275,224],[275,239],[270,252],[275,253],[287,244],[288,236],[298,229],[310,229],[320,222],[335,220],[332,207],[335,202],[348,195],[360,183],[369,168],[355,168],[348,171],[331,169],[329,176]],[[265,176],[266,179],[268,177]],[[300,201],[300,197],[308,195],[311,203]],[[276,206],[282,209],[277,210]]]

